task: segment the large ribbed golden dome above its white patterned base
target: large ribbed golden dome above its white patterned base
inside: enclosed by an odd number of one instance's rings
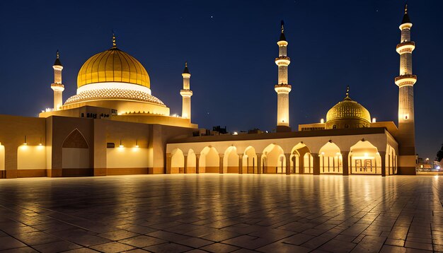
[[[151,88],[144,66],[115,46],[89,58],[77,76],[77,88],[89,83],[104,82],[134,83]]]

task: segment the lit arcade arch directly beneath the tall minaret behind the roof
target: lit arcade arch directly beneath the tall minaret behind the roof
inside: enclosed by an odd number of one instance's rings
[[[276,145],[270,144],[263,150],[263,173],[275,174],[286,173],[286,158],[283,149]]]

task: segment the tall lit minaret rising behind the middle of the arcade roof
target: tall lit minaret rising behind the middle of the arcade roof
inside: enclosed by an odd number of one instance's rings
[[[277,131],[291,131],[289,127],[289,92],[291,86],[287,82],[287,67],[291,63],[287,57],[287,41],[284,37],[284,23],[282,20],[282,33],[278,40],[278,57],[275,58],[275,64],[278,66],[278,83],[274,86],[277,93]]]

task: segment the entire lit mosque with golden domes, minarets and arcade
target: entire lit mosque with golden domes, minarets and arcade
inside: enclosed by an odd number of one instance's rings
[[[255,173],[311,175],[415,175],[413,86],[408,8],[401,25],[398,126],[376,122],[345,98],[326,122],[289,124],[288,42],[281,26],[275,58],[277,131],[269,134],[195,136],[190,71],[182,73],[181,117],[151,93],[149,74],[116,45],[93,55],[79,71],[77,93],[63,101],[63,65],[54,62],[54,107],[39,117],[0,115],[0,178]],[[270,87],[271,89],[271,87]]]

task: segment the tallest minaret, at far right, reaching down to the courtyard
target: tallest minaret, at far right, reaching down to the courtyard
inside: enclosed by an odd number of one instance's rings
[[[414,127],[414,84],[417,76],[413,75],[413,50],[415,42],[410,40],[408,5],[401,25],[400,44],[396,51],[400,54],[400,75],[395,78],[398,86],[398,159],[399,172],[415,174],[415,127]]]

